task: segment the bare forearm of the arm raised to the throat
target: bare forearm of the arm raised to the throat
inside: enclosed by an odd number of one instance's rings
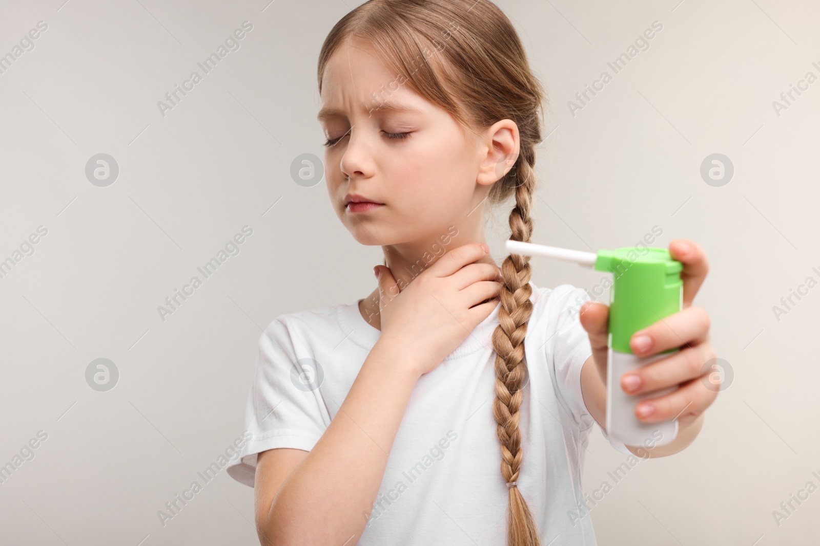
[[[377,342],[321,439],[271,503],[272,544],[356,544],[419,375],[406,351]]]

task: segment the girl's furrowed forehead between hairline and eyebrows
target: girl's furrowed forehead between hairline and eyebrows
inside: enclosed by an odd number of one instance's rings
[[[423,111],[424,98],[401,81],[370,43],[357,38],[347,40],[330,56],[322,74],[322,107],[317,118],[322,120],[350,109]]]

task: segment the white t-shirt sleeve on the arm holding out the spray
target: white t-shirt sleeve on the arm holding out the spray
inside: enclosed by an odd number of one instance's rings
[[[549,294],[549,317],[553,318],[554,327],[549,328],[547,349],[552,354],[551,365],[558,387],[558,398],[567,408],[576,425],[584,430],[595,422],[586,408],[581,391],[581,368],[586,359],[592,355],[590,337],[581,326],[580,310],[590,296],[583,288],[563,284]],[[631,454],[626,445],[610,438],[604,427],[600,427],[613,448],[621,453]]]

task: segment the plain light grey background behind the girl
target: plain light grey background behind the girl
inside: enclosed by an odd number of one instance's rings
[[[257,544],[253,490],[224,471],[162,526],[157,510],[241,435],[257,338],[278,314],[349,303],[375,287],[324,183],[290,178],[321,156],[317,55],[353,2],[2,2],[0,55],[48,29],[0,74],[0,259],[39,225],[34,254],[0,278],[0,465],[40,430],[34,459],[0,484],[3,544]],[[597,427],[585,489],[599,544],[808,544],[820,493],[772,511],[820,475],[820,70],[816,2],[503,1],[552,102],[537,163],[535,242],[631,246],[657,225],[698,241],[712,270],[695,300],[735,379],[690,448],[626,460]],[[165,116],[157,102],[244,20],[253,30]],[[567,102],[654,20],[663,30],[576,115]],[[202,71],[198,70],[201,74]],[[91,156],[116,159],[97,187]],[[700,177],[722,153],[735,174]],[[508,209],[488,219],[503,259]],[[166,297],[248,225],[253,235],[163,322]],[[547,260],[534,281],[591,289],[603,273]],[[608,294],[601,300],[608,301]],[[116,387],[85,381],[116,363]],[[201,480],[199,480],[201,481]],[[140,542],[142,541],[142,542]]]

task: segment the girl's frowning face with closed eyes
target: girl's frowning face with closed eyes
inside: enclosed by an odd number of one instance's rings
[[[481,225],[476,206],[490,191],[476,183],[486,156],[481,140],[400,81],[355,38],[335,51],[322,77],[327,191],[364,245],[430,241],[451,225]],[[382,205],[351,210],[348,194]]]

